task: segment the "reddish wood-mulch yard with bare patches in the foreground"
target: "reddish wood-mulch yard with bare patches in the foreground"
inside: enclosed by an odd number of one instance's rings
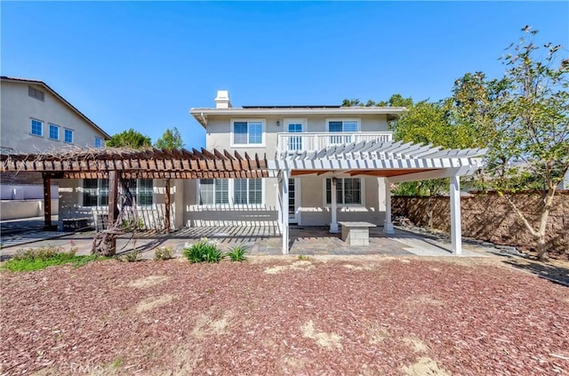
[[[0,374],[566,375],[569,288],[496,259],[1,274]]]

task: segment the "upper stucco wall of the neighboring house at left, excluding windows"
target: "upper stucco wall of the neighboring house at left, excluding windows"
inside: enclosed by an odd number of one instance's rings
[[[0,116],[0,146],[20,152],[37,152],[68,145],[94,147],[95,136],[104,135],[87,123],[83,117],[45,90],[41,85],[31,85],[44,92],[44,101],[28,96],[28,84],[3,81],[1,84],[2,111]],[[31,119],[44,122],[42,137],[31,133]],[[60,126],[60,140],[49,138],[49,124]],[[63,130],[74,131],[74,142],[63,142]]]

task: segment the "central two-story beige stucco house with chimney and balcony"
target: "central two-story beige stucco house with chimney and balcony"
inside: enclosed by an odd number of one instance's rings
[[[288,152],[314,152],[363,140],[391,140],[388,121],[405,108],[342,108],[340,106],[244,106],[234,108],[228,92],[218,92],[215,108],[191,108],[206,132],[207,149],[266,154],[277,159]],[[259,225],[276,221],[276,178],[197,180],[188,185],[188,226]],[[335,195],[332,188],[336,187]],[[384,179],[349,173],[296,171],[288,180],[290,223],[331,226],[337,221],[365,220],[383,225]],[[336,197],[337,217],[331,200]]]

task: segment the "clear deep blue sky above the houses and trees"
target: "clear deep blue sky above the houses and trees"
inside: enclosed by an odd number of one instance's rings
[[[569,2],[2,2],[1,72],[41,79],[109,134],[204,145],[192,107],[439,100],[526,24],[569,45]]]

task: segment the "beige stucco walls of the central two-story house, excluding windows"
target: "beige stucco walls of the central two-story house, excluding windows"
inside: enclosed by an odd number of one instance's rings
[[[206,148],[237,150],[242,156],[247,152],[255,153],[268,159],[276,156],[276,140],[278,132],[285,132],[284,119],[304,118],[306,127],[303,132],[327,132],[326,119],[354,119],[360,121],[361,132],[387,132],[388,123],[385,115],[361,116],[208,116],[206,129]],[[249,119],[264,121],[265,143],[263,147],[238,148],[231,147],[231,120]],[[276,125],[276,122],[280,126]],[[331,221],[330,208],[326,207],[325,185],[322,177],[303,177],[300,179],[299,225],[325,226]],[[380,179],[382,183],[382,179]],[[197,180],[184,182],[184,224],[196,226],[257,226],[275,225],[278,213],[276,200],[276,179],[263,179],[264,205],[251,207],[200,206],[197,199]],[[384,191],[378,189],[377,178],[367,178],[364,182],[364,204],[348,205],[338,208],[338,220],[363,220],[383,225],[385,220]],[[229,192],[232,195],[232,192]],[[287,210],[287,207],[284,207]]]

